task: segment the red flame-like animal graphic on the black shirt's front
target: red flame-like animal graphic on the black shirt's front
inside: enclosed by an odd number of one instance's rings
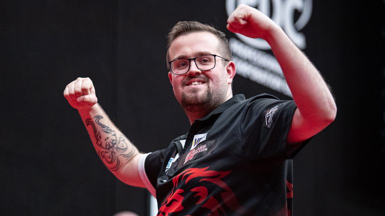
[[[157,216],[168,216],[170,213],[182,211],[186,207],[183,206],[182,203],[182,201],[186,198],[184,195],[185,193],[189,194],[190,198],[194,197],[194,200],[198,199],[196,203],[188,202],[188,207],[198,205],[200,207],[206,208],[211,212],[208,215],[226,215],[227,213],[225,208],[242,214],[245,211],[244,208],[239,204],[236,195],[230,186],[222,180],[222,178],[227,176],[231,170],[215,171],[208,170],[208,168],[209,167],[188,168],[173,177],[172,191],[161,204]],[[191,183],[192,181],[194,181],[194,185]],[[197,185],[197,182],[201,184]],[[223,190],[223,192],[219,193],[220,197],[214,197],[210,193],[209,188],[205,186],[208,183],[212,183],[217,187],[220,187],[219,189]],[[190,189],[185,191],[182,188]]]

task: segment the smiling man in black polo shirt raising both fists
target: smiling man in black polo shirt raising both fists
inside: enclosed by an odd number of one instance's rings
[[[156,196],[158,215],[292,215],[291,158],[335,118],[327,84],[270,18],[242,4],[227,28],[270,44],[294,101],[233,97],[227,39],[199,22],[178,22],[169,33],[168,77],[191,127],[165,149],[139,153],[97,103],[89,78],[65,88],[102,161]]]

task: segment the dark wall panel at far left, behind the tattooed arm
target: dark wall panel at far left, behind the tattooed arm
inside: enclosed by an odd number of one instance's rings
[[[113,177],[63,90],[78,76],[94,77],[111,112],[117,8],[117,1],[2,6],[1,215],[112,214]]]

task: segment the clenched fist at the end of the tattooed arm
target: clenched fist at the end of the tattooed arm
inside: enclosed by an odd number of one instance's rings
[[[98,102],[94,84],[90,78],[77,78],[64,89],[64,97],[76,109],[88,109]]]

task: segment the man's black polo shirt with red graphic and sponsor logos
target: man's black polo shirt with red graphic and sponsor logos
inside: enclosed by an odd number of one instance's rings
[[[158,215],[292,215],[290,158],[304,144],[287,146],[295,109],[269,94],[235,95],[148,154]]]

